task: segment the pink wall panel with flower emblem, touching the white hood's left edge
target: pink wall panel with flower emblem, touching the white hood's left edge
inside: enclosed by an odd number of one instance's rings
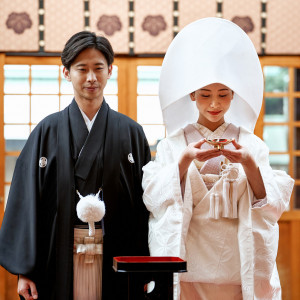
[[[173,39],[173,0],[135,0],[134,7],[134,52],[164,53]]]

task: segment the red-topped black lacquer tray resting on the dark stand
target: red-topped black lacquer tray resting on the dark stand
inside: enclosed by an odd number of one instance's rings
[[[173,256],[117,256],[116,272],[186,272],[186,261]]]

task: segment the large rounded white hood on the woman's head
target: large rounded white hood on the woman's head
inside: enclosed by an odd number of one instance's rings
[[[205,18],[184,27],[165,55],[159,97],[168,134],[198,119],[190,93],[212,83],[234,91],[226,122],[254,130],[263,99],[263,74],[248,35],[236,24]]]

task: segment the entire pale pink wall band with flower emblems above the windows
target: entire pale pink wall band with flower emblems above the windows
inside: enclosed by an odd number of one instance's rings
[[[299,0],[0,0],[0,52],[61,52],[76,32],[106,36],[116,54],[164,54],[206,17],[234,21],[261,55],[300,53]]]

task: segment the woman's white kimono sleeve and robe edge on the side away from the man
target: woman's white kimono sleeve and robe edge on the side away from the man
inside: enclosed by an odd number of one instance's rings
[[[251,149],[266,189],[266,202],[251,209],[254,299],[281,299],[280,281],[276,267],[279,228],[277,221],[288,208],[294,180],[283,171],[272,170],[269,149],[258,137],[245,134],[241,144]],[[245,143],[243,143],[245,142]],[[256,201],[248,185],[252,203]]]

